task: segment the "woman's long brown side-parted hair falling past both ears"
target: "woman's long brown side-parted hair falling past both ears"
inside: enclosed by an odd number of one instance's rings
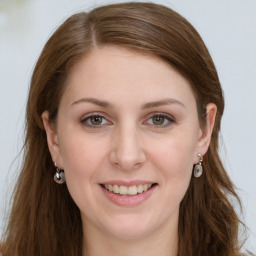
[[[41,114],[54,122],[72,66],[92,49],[118,45],[158,56],[190,81],[200,124],[208,103],[218,111],[211,144],[204,156],[204,174],[191,179],[180,205],[178,256],[242,255],[239,218],[230,203],[240,203],[218,155],[224,109],[219,78],[194,27],[167,7],[124,3],[96,8],[67,19],[46,43],[36,64],[28,96],[24,163],[1,251],[3,256],[81,256],[80,211],[55,172]]]

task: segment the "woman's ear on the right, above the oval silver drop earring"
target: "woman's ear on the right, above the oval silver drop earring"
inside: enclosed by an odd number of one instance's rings
[[[195,164],[198,163],[197,154],[205,155],[212,136],[212,130],[215,123],[215,117],[217,113],[217,106],[214,103],[209,103],[206,106],[206,125],[203,129],[200,130],[199,139],[197,142],[197,152],[195,152]]]

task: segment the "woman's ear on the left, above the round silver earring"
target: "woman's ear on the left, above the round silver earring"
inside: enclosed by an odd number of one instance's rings
[[[53,162],[56,162],[59,168],[62,168],[62,163],[61,163],[61,157],[60,157],[60,147],[59,147],[59,142],[58,142],[58,135],[56,132],[56,128],[54,125],[49,121],[49,112],[45,111],[41,115],[43,124],[44,124],[44,129],[47,135],[47,144],[49,151],[52,156]]]

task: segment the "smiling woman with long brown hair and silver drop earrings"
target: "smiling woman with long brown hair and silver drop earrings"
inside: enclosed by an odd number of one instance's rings
[[[242,255],[202,39],[156,4],[70,17],[46,43],[1,252]]]

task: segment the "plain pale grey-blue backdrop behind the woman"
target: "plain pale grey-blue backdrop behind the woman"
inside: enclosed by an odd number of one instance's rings
[[[22,163],[24,113],[31,73],[49,36],[71,14],[121,1],[0,0],[0,225]],[[154,1],[198,30],[225,94],[220,154],[244,206],[256,251],[256,0]],[[36,157],[36,156],[35,156]],[[2,232],[2,228],[0,232]]]

